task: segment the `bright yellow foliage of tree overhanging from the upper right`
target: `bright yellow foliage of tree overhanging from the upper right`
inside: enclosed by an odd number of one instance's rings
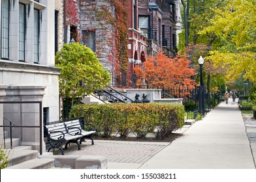
[[[228,0],[222,8],[214,8],[211,25],[200,34],[215,34],[221,41],[210,51],[208,59],[227,70],[227,78],[256,81],[256,2]]]

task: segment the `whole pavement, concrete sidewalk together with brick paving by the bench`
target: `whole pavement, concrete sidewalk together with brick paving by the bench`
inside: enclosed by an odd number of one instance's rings
[[[104,156],[108,169],[255,169],[256,123],[246,123],[237,103],[223,102],[202,120],[174,131],[182,136],[172,143],[95,140],[92,146],[88,140],[65,155]]]

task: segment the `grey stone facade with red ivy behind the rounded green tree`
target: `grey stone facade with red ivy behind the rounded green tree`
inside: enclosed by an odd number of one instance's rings
[[[96,14],[95,9],[102,6],[114,14],[114,8],[108,1],[95,0],[80,3],[80,26],[78,31],[82,43],[86,44],[97,54],[103,68],[112,75],[112,85],[115,85],[115,58],[116,58],[116,34],[114,26],[106,22],[104,18]]]

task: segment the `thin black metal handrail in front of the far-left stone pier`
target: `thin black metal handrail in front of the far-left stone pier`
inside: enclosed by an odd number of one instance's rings
[[[40,155],[42,155],[42,101],[0,101],[0,103],[6,104],[6,103],[38,103],[39,104],[39,125],[12,125],[11,127],[39,127],[40,128]],[[0,127],[10,127],[10,125],[0,125]],[[5,141],[4,141],[5,142]],[[12,138],[11,138],[11,144],[12,144]]]

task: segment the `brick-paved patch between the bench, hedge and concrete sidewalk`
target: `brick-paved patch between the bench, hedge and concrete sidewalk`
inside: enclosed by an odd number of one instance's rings
[[[153,155],[164,149],[168,142],[123,142],[109,140],[95,140],[92,146],[90,140],[82,143],[81,150],[77,146],[70,146],[64,151],[65,155],[101,155],[107,157],[108,162],[125,162],[143,164]],[[59,152],[55,152],[59,155]]]

